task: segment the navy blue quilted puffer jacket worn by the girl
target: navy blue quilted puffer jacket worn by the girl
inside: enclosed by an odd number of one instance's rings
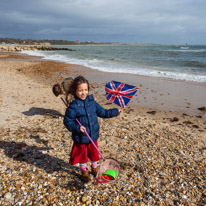
[[[80,125],[76,118],[86,128],[92,140],[96,142],[99,138],[99,123],[97,117],[111,118],[119,114],[118,109],[104,109],[94,101],[93,95],[88,95],[85,100],[76,98],[66,110],[64,125],[72,132],[72,139],[78,143],[89,143],[90,140],[85,133],[80,131]]]

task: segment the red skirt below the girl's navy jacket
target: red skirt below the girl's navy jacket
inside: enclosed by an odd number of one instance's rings
[[[97,141],[94,144],[98,148]],[[86,163],[88,162],[88,158],[92,162],[96,162],[99,160],[99,153],[97,152],[93,144],[92,143],[80,144],[80,143],[74,142],[72,146],[72,151],[70,154],[69,164],[75,165],[77,163]]]

